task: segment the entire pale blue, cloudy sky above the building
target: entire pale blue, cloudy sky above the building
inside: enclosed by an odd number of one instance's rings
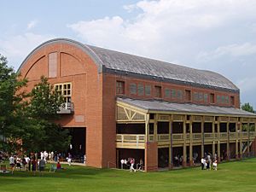
[[[52,38],[211,70],[256,108],[256,0],[1,1],[0,54],[18,69]]]

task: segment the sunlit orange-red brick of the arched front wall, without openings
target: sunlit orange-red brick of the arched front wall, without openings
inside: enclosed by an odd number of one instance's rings
[[[58,75],[49,82],[71,82],[73,86],[74,113],[62,115],[60,123],[66,127],[86,127],[87,164],[102,167],[102,74],[97,73],[90,56],[72,44],[44,45],[20,68],[21,75],[30,81],[27,90],[32,90],[41,75],[48,77],[48,55],[52,52],[57,52]]]

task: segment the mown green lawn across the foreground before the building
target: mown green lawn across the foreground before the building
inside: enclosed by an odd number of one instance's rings
[[[65,166],[65,165],[64,165]],[[0,191],[256,191],[256,159],[218,165],[218,171],[201,171],[200,167],[169,172],[128,172],[65,166],[66,170],[44,172],[17,171],[0,174]]]

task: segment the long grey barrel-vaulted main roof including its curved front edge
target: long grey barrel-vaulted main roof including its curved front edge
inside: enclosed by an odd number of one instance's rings
[[[58,42],[73,44],[80,49],[83,49],[84,52],[90,55],[96,62],[96,65],[99,67],[99,72],[122,73],[140,78],[159,79],[161,81],[171,81],[177,84],[191,84],[201,87],[239,92],[239,89],[235,84],[218,73],[183,67],[165,61],[157,61],[142,56],[80,44],[79,42],[67,38],[49,40],[48,42],[39,45],[38,48],[32,51],[32,53],[47,44],[55,44]],[[32,55],[32,53],[30,55]],[[27,56],[26,60],[30,55]],[[26,60],[23,61],[20,67],[22,67]]]

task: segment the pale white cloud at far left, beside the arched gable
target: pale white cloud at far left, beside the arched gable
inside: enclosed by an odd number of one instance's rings
[[[44,43],[46,40],[54,38],[51,35],[39,35],[32,32],[26,32],[22,35],[13,37],[0,38],[0,53],[5,55],[9,64],[17,69],[26,58],[32,49],[35,49],[39,44]]]

